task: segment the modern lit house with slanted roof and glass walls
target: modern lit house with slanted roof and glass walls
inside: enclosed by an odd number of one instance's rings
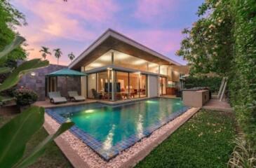
[[[180,85],[184,66],[159,52],[108,29],[69,64],[84,71],[81,94],[90,99],[119,101],[158,97]]]

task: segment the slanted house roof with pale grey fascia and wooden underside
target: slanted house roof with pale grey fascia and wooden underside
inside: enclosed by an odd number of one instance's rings
[[[133,41],[132,39],[116,32],[112,29],[107,29],[104,34],[102,34],[97,40],[91,44],[85,51],[79,55],[71,64],[69,64],[70,69],[79,69],[81,66],[90,64],[95,59],[105,54],[109,50],[117,50],[119,52],[126,53],[128,55],[133,55],[134,57],[139,57],[145,59],[149,62],[154,62],[156,64],[163,65],[181,65],[159,52],[151,50],[146,46]]]

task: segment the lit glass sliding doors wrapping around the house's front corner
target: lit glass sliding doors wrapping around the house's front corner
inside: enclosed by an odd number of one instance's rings
[[[88,74],[87,97],[105,101],[147,97],[147,75],[113,69]]]

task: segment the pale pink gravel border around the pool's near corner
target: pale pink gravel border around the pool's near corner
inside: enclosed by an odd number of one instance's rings
[[[166,125],[163,125],[158,130],[151,133],[149,137],[143,138],[141,141],[138,141],[136,144],[127,148],[125,151],[121,152],[109,162],[106,162],[102,158],[100,158],[97,153],[95,153],[90,147],[86,146],[79,138],[74,136],[71,132],[67,131],[64,134],[60,135],[60,138],[65,140],[67,143],[64,145],[63,143],[57,143],[58,146],[66,146],[67,144],[74,150],[74,153],[77,153],[80,158],[83,160],[84,165],[80,165],[79,167],[133,167],[137,162],[142,160],[146,155],[150,153],[156,146],[161,144],[161,142],[166,139],[170,134],[172,134],[178,127],[180,127],[183,123],[185,123],[191,116],[194,115],[199,110],[199,108],[191,108],[181,116],[175,118],[170,121]],[[58,130],[60,124],[58,124],[53,118],[45,114],[45,125],[48,125],[48,129],[46,130]],[[49,132],[49,131],[48,131]],[[60,139],[58,138],[58,139]],[[62,149],[62,148],[61,148]],[[63,150],[62,150],[63,151]],[[63,151],[65,153],[65,151]],[[66,154],[65,154],[66,155]],[[70,162],[74,161],[66,155]],[[74,165],[75,166],[75,165]]]

